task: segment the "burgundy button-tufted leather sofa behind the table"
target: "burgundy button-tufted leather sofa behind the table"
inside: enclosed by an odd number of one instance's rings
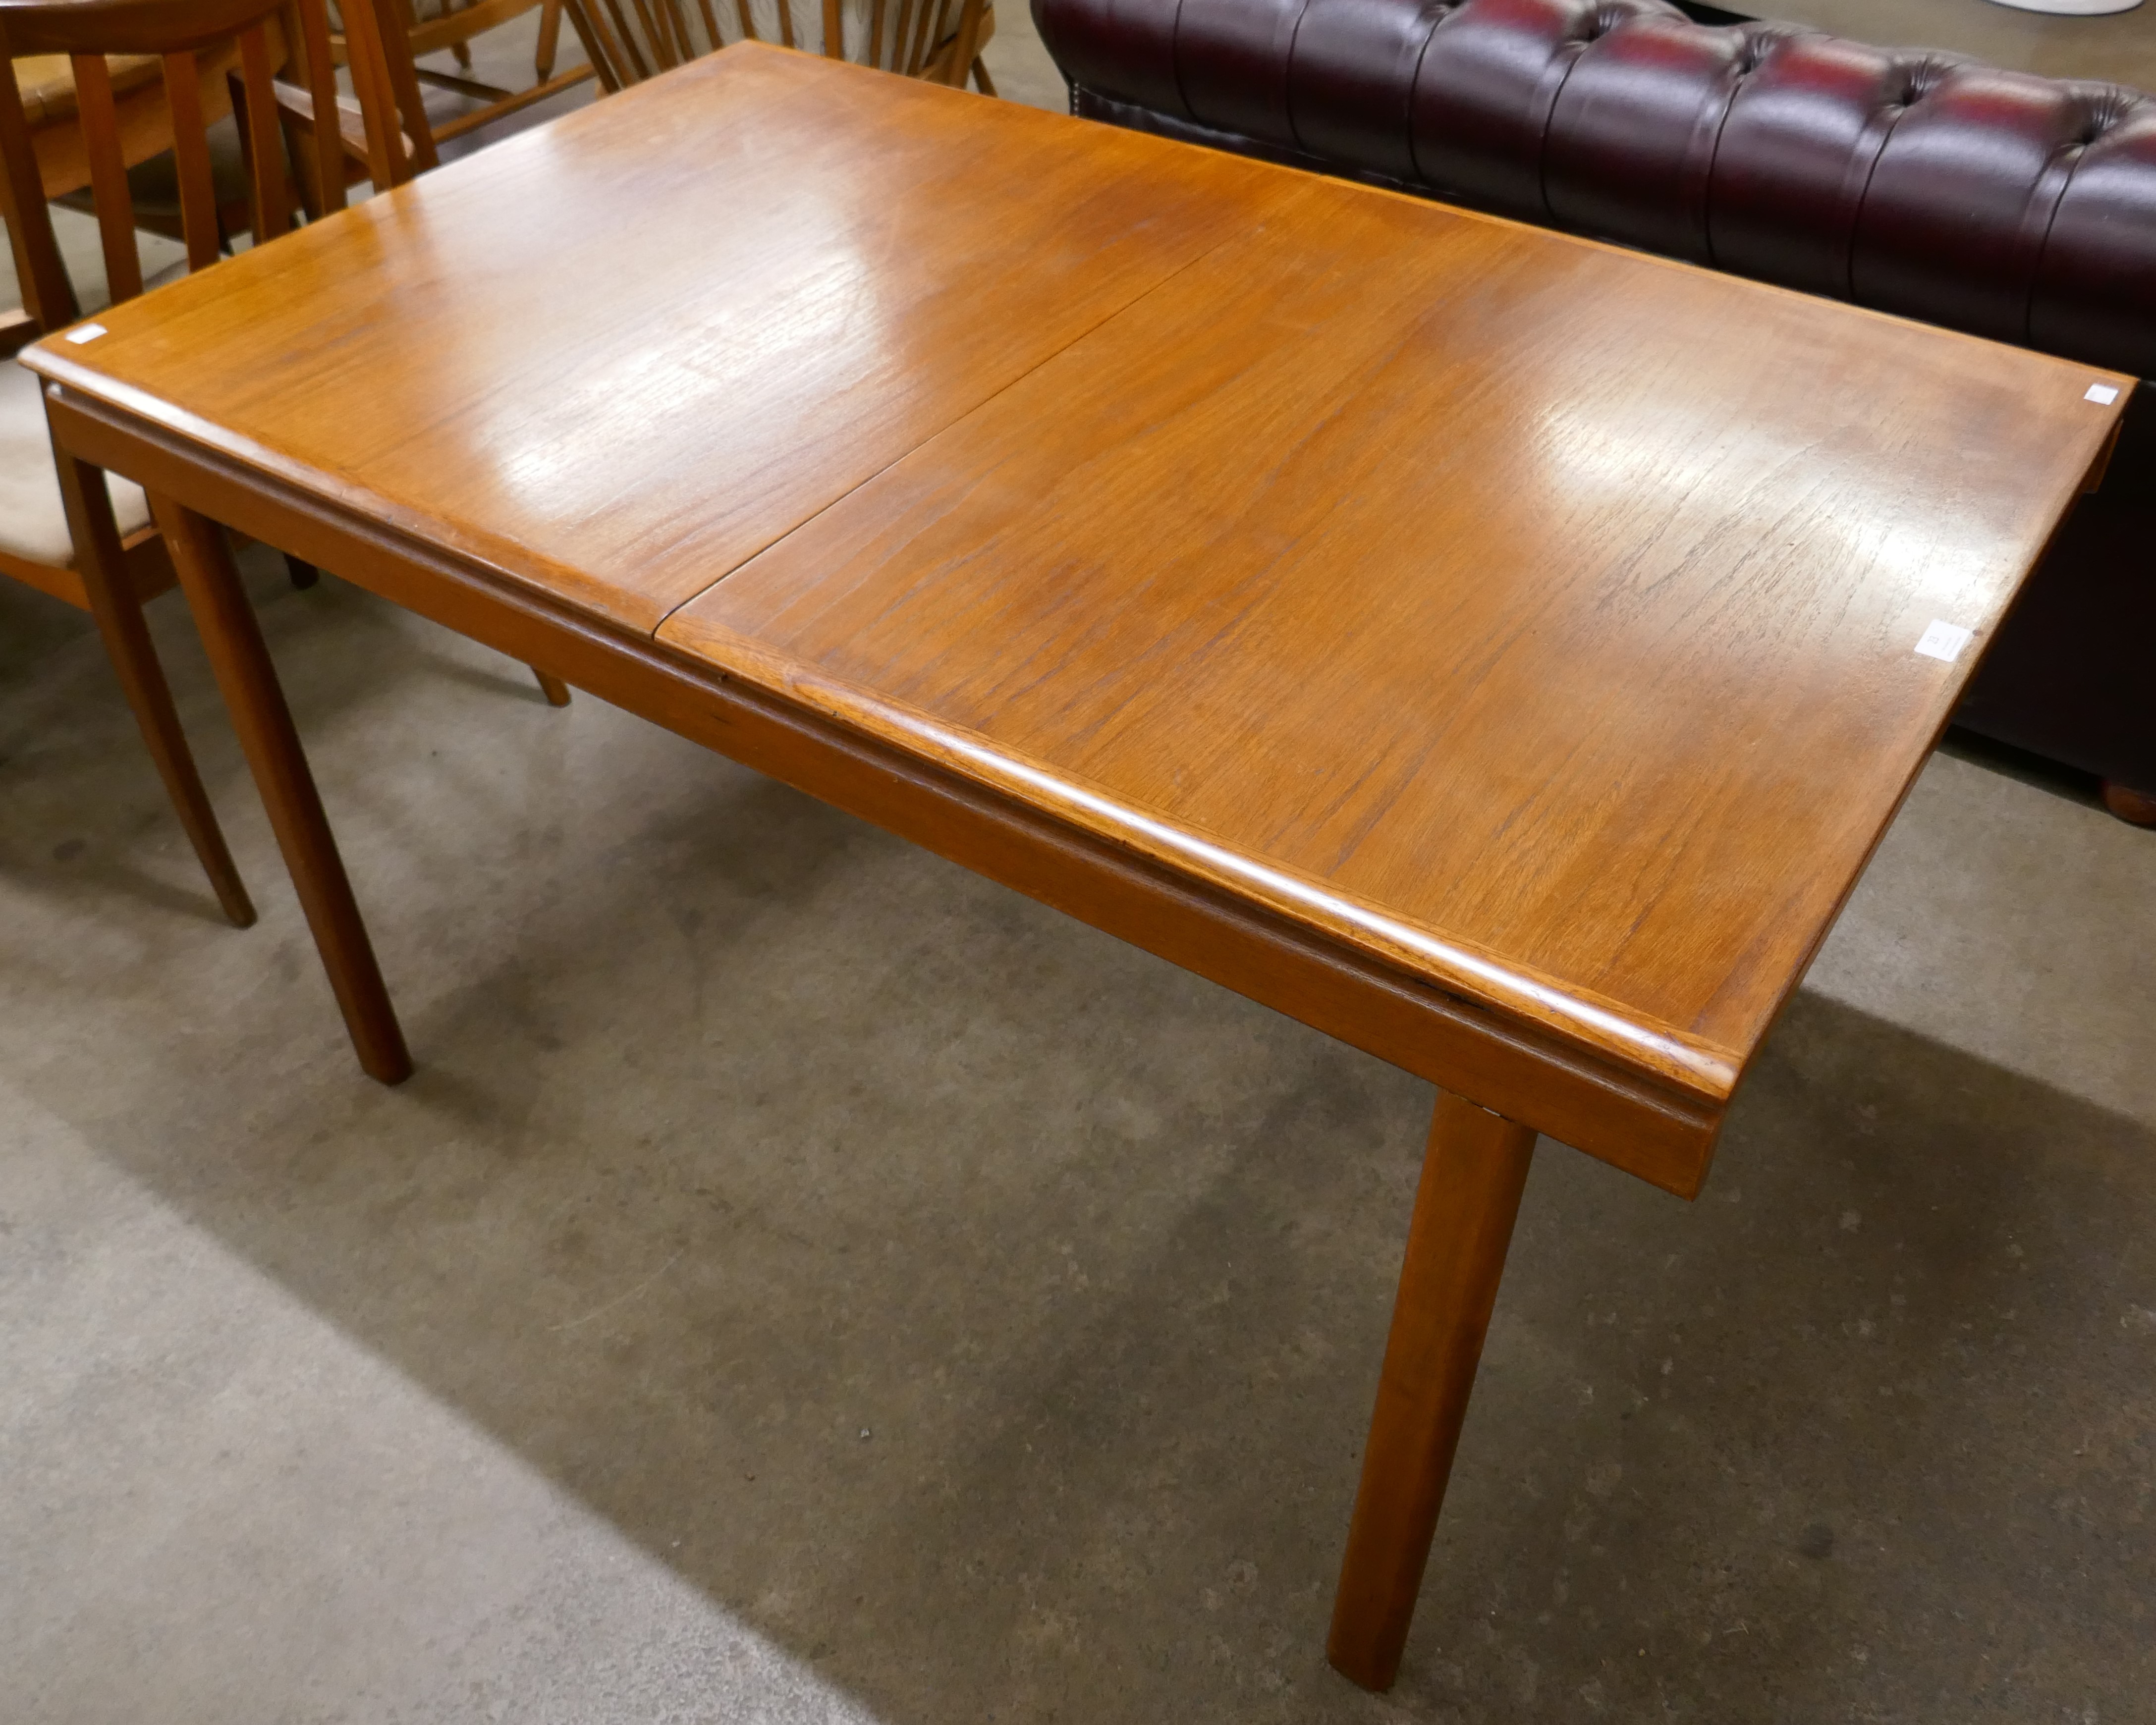
[[[1072,112],[2156,377],[2156,99],[1664,0],[1033,0]],[[1955,716],[2156,819],[2156,390]]]

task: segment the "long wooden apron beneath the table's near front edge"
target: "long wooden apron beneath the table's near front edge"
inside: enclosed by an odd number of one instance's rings
[[[47,384],[45,401],[54,436],[82,461],[1654,1186],[1695,1197],[1705,1179],[1725,1104],[1557,1044],[80,390]]]

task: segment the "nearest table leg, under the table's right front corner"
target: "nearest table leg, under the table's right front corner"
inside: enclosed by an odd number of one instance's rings
[[[1438,1091],[1326,1658],[1391,1688],[1505,1274],[1535,1132]]]

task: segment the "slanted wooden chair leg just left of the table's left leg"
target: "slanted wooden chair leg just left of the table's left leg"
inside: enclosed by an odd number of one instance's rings
[[[209,888],[224,906],[224,914],[235,927],[254,923],[254,903],[239,880],[224,832],[218,828],[218,811],[209,804],[203,776],[194,770],[194,755],[188,748],[188,733],[179,729],[179,709],[172,705],[172,686],[164,679],[157,662],[157,647],[149,638],[149,623],[142,621],[142,595],[127,578],[127,556],[121,550],[119,524],[112,520],[112,494],[99,468],[84,466],[73,455],[54,448],[60,474],[60,500],[67,505],[67,524],[75,537],[75,574],[91,597],[91,617],[97,619],[97,634],[103,636],[106,658],[121,679],[127,705],[134,707],[136,724],[142,727],[142,742],[157,763],[157,776],[172,798],[179,824],[188,830],[188,841],[209,875]]]

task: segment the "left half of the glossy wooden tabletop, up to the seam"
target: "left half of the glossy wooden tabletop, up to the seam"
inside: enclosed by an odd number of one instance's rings
[[[1289,185],[737,45],[32,364],[649,630]]]

